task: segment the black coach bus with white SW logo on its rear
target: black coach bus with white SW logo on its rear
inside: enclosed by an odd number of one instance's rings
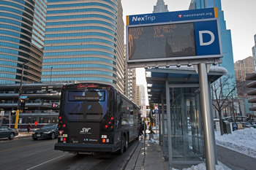
[[[113,86],[81,83],[62,88],[55,150],[123,153],[139,136],[140,108]]]

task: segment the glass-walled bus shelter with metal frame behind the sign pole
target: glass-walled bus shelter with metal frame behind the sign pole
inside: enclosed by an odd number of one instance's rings
[[[211,83],[223,74],[227,74],[226,69],[211,66],[207,74],[209,90]],[[159,106],[159,143],[169,166],[202,163],[209,152],[203,137],[208,128],[203,127],[200,111],[199,78],[195,69],[188,66],[146,69],[148,101]],[[209,94],[211,101],[210,91]],[[207,114],[211,115],[214,126],[212,109]],[[212,142],[215,149],[215,138],[213,141],[207,142]]]

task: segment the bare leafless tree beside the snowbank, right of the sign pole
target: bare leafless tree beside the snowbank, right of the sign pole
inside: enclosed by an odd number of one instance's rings
[[[211,93],[213,98],[213,107],[219,114],[220,133],[224,134],[222,123],[222,110],[230,104],[230,96],[236,93],[236,82],[230,82],[231,76],[227,75],[211,84]]]

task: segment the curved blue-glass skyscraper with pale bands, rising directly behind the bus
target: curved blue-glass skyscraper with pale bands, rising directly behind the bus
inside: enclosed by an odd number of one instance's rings
[[[42,82],[99,82],[124,92],[121,0],[48,0]]]

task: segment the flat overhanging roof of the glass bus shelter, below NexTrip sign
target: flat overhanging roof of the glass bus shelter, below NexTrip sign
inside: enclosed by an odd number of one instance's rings
[[[227,74],[227,69],[220,66],[211,66],[208,72],[208,80],[212,83]],[[170,66],[159,69],[146,69],[146,81],[148,88],[148,101],[151,103],[161,103],[161,96],[165,96],[165,82],[178,87],[195,87],[199,85],[199,74],[193,67]]]

